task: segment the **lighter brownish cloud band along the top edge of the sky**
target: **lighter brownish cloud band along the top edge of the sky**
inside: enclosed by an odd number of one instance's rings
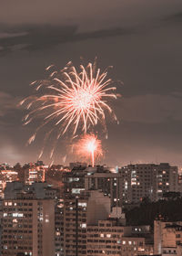
[[[7,24],[67,24],[76,22],[82,27],[99,22],[108,26],[113,20],[136,21],[164,13],[181,6],[178,0],[6,0],[1,3],[1,20]],[[85,22],[83,22],[85,21]]]

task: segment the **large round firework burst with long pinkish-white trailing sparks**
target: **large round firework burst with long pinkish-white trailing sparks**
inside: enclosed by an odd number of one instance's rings
[[[50,72],[53,68],[54,65],[50,65],[45,71]],[[116,99],[118,94],[116,87],[112,86],[113,81],[106,77],[107,70],[101,72],[96,69],[96,61],[86,68],[81,65],[79,71],[72,62],[68,62],[64,69],[52,71],[47,80],[33,81],[31,86],[35,87],[36,94],[20,102],[28,111],[24,124],[32,123],[37,118],[41,118],[43,123],[36,128],[29,144],[48,123],[54,127],[59,138],[66,131],[71,131],[74,136],[80,131],[86,133],[97,123],[105,123],[106,112],[116,120],[108,101]],[[54,149],[51,152],[53,155]]]

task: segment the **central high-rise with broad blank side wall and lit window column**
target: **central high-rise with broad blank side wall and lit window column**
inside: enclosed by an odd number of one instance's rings
[[[64,256],[86,255],[87,225],[96,225],[110,213],[110,198],[96,190],[64,199]]]

